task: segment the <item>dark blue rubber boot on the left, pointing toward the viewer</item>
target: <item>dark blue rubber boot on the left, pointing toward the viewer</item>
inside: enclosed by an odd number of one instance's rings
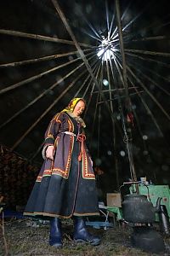
[[[49,244],[53,247],[62,247],[62,231],[59,218],[50,219]]]

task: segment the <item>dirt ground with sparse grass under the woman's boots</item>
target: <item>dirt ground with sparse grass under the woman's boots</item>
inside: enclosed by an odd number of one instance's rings
[[[2,229],[4,228],[4,230]],[[31,218],[5,220],[0,230],[0,255],[17,256],[146,256],[160,255],[147,253],[131,245],[130,236],[133,228],[124,225],[104,230],[103,228],[88,230],[101,237],[101,244],[93,247],[90,245],[77,244],[72,241],[72,223],[63,223],[64,244],[62,248],[56,249],[48,245],[48,221],[33,220]],[[4,234],[3,234],[4,231]],[[5,249],[4,238],[7,242]],[[164,237],[166,251],[162,255],[170,255],[170,238]]]

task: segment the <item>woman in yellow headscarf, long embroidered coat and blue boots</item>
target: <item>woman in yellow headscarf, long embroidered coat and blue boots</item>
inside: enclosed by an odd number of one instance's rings
[[[45,159],[24,215],[50,218],[49,244],[62,246],[60,218],[73,218],[75,241],[99,244],[86,230],[82,217],[99,215],[92,160],[85,144],[86,127],[80,117],[86,107],[74,98],[48,125],[42,156]]]

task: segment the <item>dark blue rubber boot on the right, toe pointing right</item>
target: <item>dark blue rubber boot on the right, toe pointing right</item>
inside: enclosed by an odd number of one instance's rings
[[[86,229],[86,224],[83,218],[74,217],[73,222],[74,222],[74,234],[73,234],[74,241],[85,242],[94,246],[99,245],[100,243],[99,237],[93,236],[88,233],[88,230]]]

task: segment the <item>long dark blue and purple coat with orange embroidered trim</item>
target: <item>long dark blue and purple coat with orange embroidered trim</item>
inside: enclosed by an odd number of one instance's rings
[[[43,152],[54,145],[54,160],[44,160],[24,215],[99,215],[94,170],[82,125],[69,112],[57,113],[51,120]]]

